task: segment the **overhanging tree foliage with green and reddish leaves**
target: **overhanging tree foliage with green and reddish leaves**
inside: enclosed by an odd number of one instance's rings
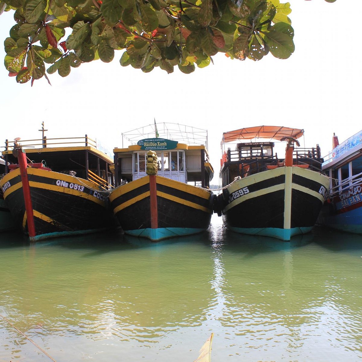
[[[168,73],[206,67],[218,52],[260,60],[294,51],[290,4],[279,0],[0,0],[4,10],[15,11],[4,45],[5,67],[18,83],[46,72],[65,77],[122,49],[122,66]]]

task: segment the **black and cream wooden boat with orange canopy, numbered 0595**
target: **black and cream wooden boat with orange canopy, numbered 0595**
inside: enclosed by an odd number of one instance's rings
[[[258,126],[225,132],[216,211],[233,231],[281,240],[311,231],[323,205],[329,178],[321,174],[320,148],[296,148],[303,130]],[[257,142],[244,142],[257,138]],[[260,141],[261,139],[261,141]],[[274,142],[286,141],[285,157]],[[235,150],[228,143],[236,143]],[[228,147],[228,148],[226,148]]]

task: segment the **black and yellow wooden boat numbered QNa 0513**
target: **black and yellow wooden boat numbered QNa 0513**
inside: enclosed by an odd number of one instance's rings
[[[43,136],[42,140],[22,141],[22,145],[15,139],[13,150],[7,140],[2,154],[6,174],[0,188],[17,228],[31,241],[111,226],[108,194],[113,159],[87,135],[71,139]]]

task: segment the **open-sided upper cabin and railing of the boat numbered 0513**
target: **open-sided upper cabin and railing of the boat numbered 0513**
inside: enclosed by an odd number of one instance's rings
[[[96,140],[85,137],[46,138],[37,140],[18,140],[26,152],[28,163],[40,165],[51,171],[74,174],[78,178],[92,181],[104,190],[114,184],[113,155],[103,152]],[[13,155],[14,142],[5,141],[2,156],[5,161],[5,173],[18,163]],[[66,145],[66,146],[65,146]],[[102,151],[101,151],[102,149]],[[39,166],[36,166],[39,167]]]

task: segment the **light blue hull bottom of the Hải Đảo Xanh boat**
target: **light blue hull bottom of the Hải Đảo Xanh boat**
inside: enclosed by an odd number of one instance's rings
[[[204,230],[205,229],[168,227],[168,228],[157,228],[157,229],[146,228],[138,230],[124,230],[124,232],[127,235],[147,237],[147,239],[150,239],[152,241],[158,241],[162,239],[167,239],[169,237],[197,234]]]

